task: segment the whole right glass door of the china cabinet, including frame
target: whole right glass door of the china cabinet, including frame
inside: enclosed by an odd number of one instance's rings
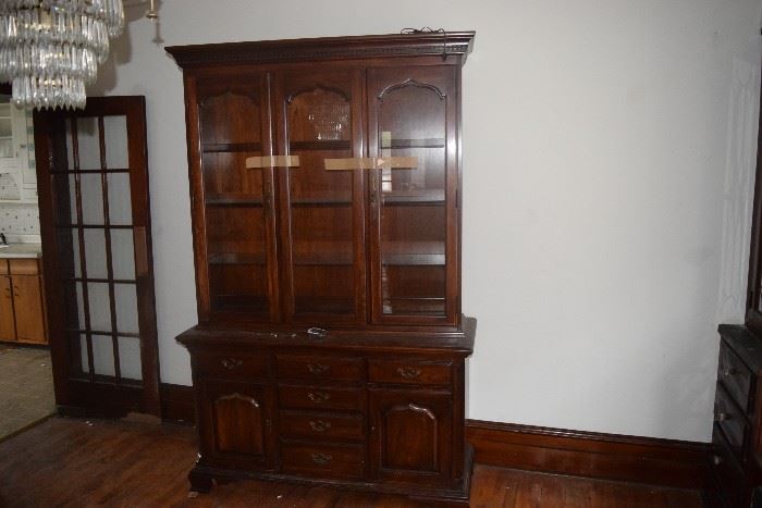
[[[452,324],[457,312],[456,70],[371,69],[372,318]]]

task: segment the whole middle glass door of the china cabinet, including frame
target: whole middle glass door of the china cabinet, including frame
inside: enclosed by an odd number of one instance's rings
[[[287,321],[365,321],[364,175],[325,165],[361,156],[361,94],[359,71],[279,76],[279,153],[292,156],[275,170]]]

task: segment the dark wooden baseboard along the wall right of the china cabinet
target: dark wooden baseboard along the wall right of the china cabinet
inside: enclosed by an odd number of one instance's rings
[[[467,420],[466,441],[482,464],[679,488],[709,482],[709,443],[480,420]]]

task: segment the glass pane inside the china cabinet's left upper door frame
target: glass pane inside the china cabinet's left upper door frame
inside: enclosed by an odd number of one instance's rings
[[[202,85],[198,111],[210,310],[267,319],[270,170],[246,168],[246,159],[262,156],[263,148],[256,83]]]

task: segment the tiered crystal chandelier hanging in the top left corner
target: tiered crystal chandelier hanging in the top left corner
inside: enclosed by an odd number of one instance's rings
[[[0,82],[26,109],[82,109],[124,30],[122,0],[0,0]]]

